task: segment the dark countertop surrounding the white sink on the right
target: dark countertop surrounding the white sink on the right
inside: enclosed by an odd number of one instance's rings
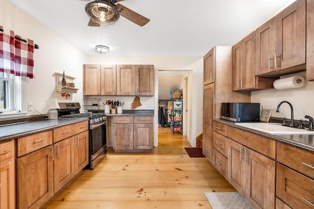
[[[213,120],[229,125],[231,127],[235,127],[237,129],[241,129],[243,131],[247,131],[247,132],[262,136],[262,137],[266,137],[268,139],[280,141],[288,145],[292,145],[297,148],[304,149],[304,150],[314,153],[314,142],[313,142],[314,132],[311,135],[309,134],[274,135],[274,134],[268,134],[262,131],[257,131],[254,129],[246,128],[243,126],[239,126],[239,125],[236,125],[235,122],[225,120],[225,119],[213,119]]]

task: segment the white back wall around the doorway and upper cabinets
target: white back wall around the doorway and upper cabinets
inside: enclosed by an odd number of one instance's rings
[[[189,91],[192,98],[189,101],[189,112],[191,113],[189,127],[189,136],[187,140],[192,146],[196,146],[196,137],[203,132],[203,57],[166,57],[166,56],[155,56],[155,57],[145,57],[145,56],[93,56],[89,57],[88,63],[85,64],[132,64],[132,65],[154,65],[155,68],[155,95],[158,94],[158,70],[191,70],[189,76]],[[126,102],[125,109],[131,109],[131,102],[134,97],[103,97],[103,98],[113,98],[113,99],[124,99]],[[157,100],[140,97],[142,106],[136,108],[136,110],[147,109],[147,105],[153,106],[155,113],[157,113]],[[143,101],[143,102],[142,102]],[[155,102],[154,102],[155,101]],[[130,108],[128,108],[130,107]],[[157,115],[157,114],[156,114]],[[155,146],[157,146],[157,116],[155,116]]]

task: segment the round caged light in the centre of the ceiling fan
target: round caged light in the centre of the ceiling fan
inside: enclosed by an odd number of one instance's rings
[[[95,0],[85,6],[85,11],[91,20],[98,24],[108,25],[118,21],[120,14],[110,4],[110,0]]]

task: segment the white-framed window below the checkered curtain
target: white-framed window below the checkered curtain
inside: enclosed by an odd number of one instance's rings
[[[10,73],[0,72],[0,112],[21,110],[21,78]]]

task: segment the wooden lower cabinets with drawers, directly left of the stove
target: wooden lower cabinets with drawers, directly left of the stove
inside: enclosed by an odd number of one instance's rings
[[[88,121],[16,139],[16,150],[17,208],[38,209],[88,164]]]

